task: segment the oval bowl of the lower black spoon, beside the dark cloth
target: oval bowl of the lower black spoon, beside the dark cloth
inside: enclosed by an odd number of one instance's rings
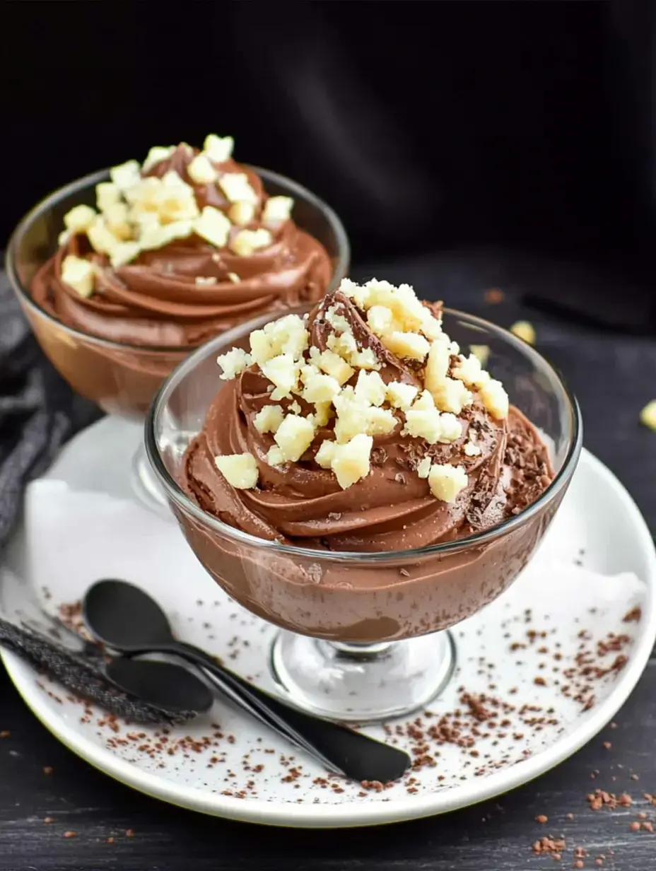
[[[120,656],[105,665],[105,676],[118,689],[165,711],[206,713],[213,706],[206,684],[177,663]]]

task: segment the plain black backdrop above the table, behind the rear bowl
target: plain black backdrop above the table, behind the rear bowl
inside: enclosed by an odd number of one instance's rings
[[[150,145],[335,206],[355,260],[461,246],[651,280],[653,3],[3,3],[0,240]]]

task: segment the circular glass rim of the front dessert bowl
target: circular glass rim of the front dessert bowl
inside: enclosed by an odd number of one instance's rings
[[[296,309],[296,311],[300,310],[301,309],[298,308]],[[484,318],[479,318],[477,317],[477,315],[467,314],[466,312],[461,312],[453,308],[444,308],[443,311],[444,314],[455,316],[458,319],[467,321],[473,326],[483,327],[486,330],[491,330],[493,334],[497,334],[497,336],[510,344],[511,347],[516,348],[517,350],[528,356],[531,361],[539,363],[540,366],[550,370],[553,379],[558,383],[559,387],[563,391],[563,394],[565,395],[571,422],[571,441],[565,455],[565,460],[563,461],[563,465],[558,470],[557,474],[554,476],[553,481],[551,481],[549,486],[544,490],[542,494],[540,494],[540,496],[538,496],[538,499],[536,499],[534,503],[531,503],[531,505],[529,505],[528,508],[524,509],[524,511],[521,511],[519,514],[514,515],[513,517],[509,517],[507,520],[504,520],[503,523],[499,523],[497,526],[490,527],[490,529],[488,530],[474,533],[474,535],[464,538],[456,538],[453,541],[448,542],[428,544],[421,548],[414,548],[411,550],[323,551],[313,548],[301,547],[296,544],[282,544],[281,542],[267,541],[263,538],[258,538],[248,532],[243,532],[242,530],[235,529],[235,527],[230,526],[228,523],[224,523],[218,517],[213,517],[213,515],[208,514],[206,511],[202,510],[199,505],[193,502],[190,496],[187,496],[185,490],[182,490],[179,483],[175,481],[175,479],[169,473],[168,469],[166,469],[166,465],[164,463],[164,460],[162,459],[162,456],[159,453],[159,447],[155,438],[155,421],[161,413],[168,394],[170,394],[172,390],[179,384],[179,381],[181,381],[186,375],[193,371],[197,359],[200,357],[206,358],[206,356],[213,355],[216,351],[219,350],[218,347],[215,348],[215,345],[221,346],[224,343],[227,344],[228,342],[235,341],[236,339],[243,337],[245,327],[249,326],[247,323],[241,324],[238,327],[233,327],[232,330],[220,334],[220,336],[217,336],[215,339],[206,342],[205,345],[197,348],[193,354],[190,354],[188,357],[186,357],[184,361],[179,363],[179,365],[173,369],[171,375],[169,375],[162,383],[157,394],[152,400],[151,406],[148,409],[148,413],[145,419],[145,451],[151,467],[159,480],[159,483],[166,490],[167,496],[179,506],[180,510],[182,510],[186,514],[191,514],[194,519],[197,520],[199,523],[205,526],[209,526],[210,529],[212,529],[214,532],[218,532],[220,533],[220,535],[223,535],[228,539],[237,541],[240,544],[247,544],[256,549],[260,548],[262,550],[268,550],[272,557],[277,554],[281,554],[286,556],[302,557],[303,559],[314,560],[314,562],[325,559],[333,562],[351,564],[362,564],[362,562],[386,563],[395,562],[396,560],[407,561],[409,558],[428,557],[436,554],[447,554],[450,552],[457,552],[458,550],[463,550],[464,548],[477,547],[479,545],[487,544],[488,542],[495,540],[497,537],[503,536],[506,533],[511,532],[511,530],[514,530],[517,527],[523,525],[526,521],[530,520],[531,517],[534,517],[536,514],[538,514],[538,512],[542,510],[545,505],[550,503],[551,500],[558,495],[560,490],[562,490],[563,486],[569,482],[571,475],[576,468],[576,465],[578,463],[578,456],[580,455],[581,447],[583,444],[583,422],[581,417],[581,411],[578,407],[578,401],[571,392],[570,388],[567,386],[564,378],[559,374],[558,370],[553,367],[551,363],[546,360],[545,357],[543,357],[542,354],[539,354],[535,348],[532,348],[531,345],[527,344],[522,339],[517,338],[517,336],[511,334],[511,332],[504,329],[504,327],[498,327],[497,324],[493,324],[491,323],[491,321],[485,321]],[[259,321],[261,321],[261,317],[255,318],[253,321],[251,321],[251,323],[255,325]],[[253,328],[255,328],[255,326],[253,326]]]

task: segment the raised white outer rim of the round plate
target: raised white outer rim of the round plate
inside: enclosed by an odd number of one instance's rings
[[[638,683],[656,640],[656,548],[652,534],[637,504],[619,478],[585,448],[582,450],[580,462],[587,464],[593,474],[604,478],[605,483],[614,492],[615,498],[622,503],[630,521],[634,524],[641,548],[647,557],[646,577],[641,578],[646,584],[648,593],[646,607],[643,609],[643,617],[640,621],[642,631],[636,638],[632,657],[627,667],[620,673],[617,685],[589,719],[543,752],[535,753],[529,759],[523,760],[521,765],[501,769],[484,779],[472,779],[454,789],[426,795],[371,803],[362,802],[358,803],[356,808],[352,802],[301,805],[257,798],[236,799],[221,793],[204,792],[199,787],[170,785],[162,775],[144,771],[121,759],[111,750],[96,745],[84,734],[78,733],[63,717],[51,716],[51,709],[45,704],[43,693],[33,679],[34,672],[30,666],[16,654],[1,649],[0,659],[11,682],[30,711],[64,746],[126,787],[177,807],[229,820],[294,828],[355,828],[383,825],[436,816],[469,807],[510,792],[550,771],[598,734],[624,705]],[[576,475],[577,472],[574,474]]]

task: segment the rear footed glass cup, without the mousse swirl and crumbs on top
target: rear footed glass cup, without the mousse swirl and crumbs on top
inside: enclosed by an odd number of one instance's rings
[[[269,195],[294,199],[295,224],[324,246],[333,266],[329,287],[339,285],[348,271],[349,245],[335,212],[292,179],[257,166],[248,169],[257,173]],[[98,338],[57,320],[30,294],[34,276],[57,252],[64,215],[73,206],[94,206],[96,186],[109,178],[108,170],[94,172],[51,193],[35,206],[10,239],[6,268],[30,327],[59,374],[78,394],[96,402],[107,414],[125,420],[126,425],[138,424],[132,426],[133,489],[148,507],[168,513],[166,498],[145,458],[143,422],[162,381],[197,346],[145,346]],[[249,316],[245,310],[244,318]]]

